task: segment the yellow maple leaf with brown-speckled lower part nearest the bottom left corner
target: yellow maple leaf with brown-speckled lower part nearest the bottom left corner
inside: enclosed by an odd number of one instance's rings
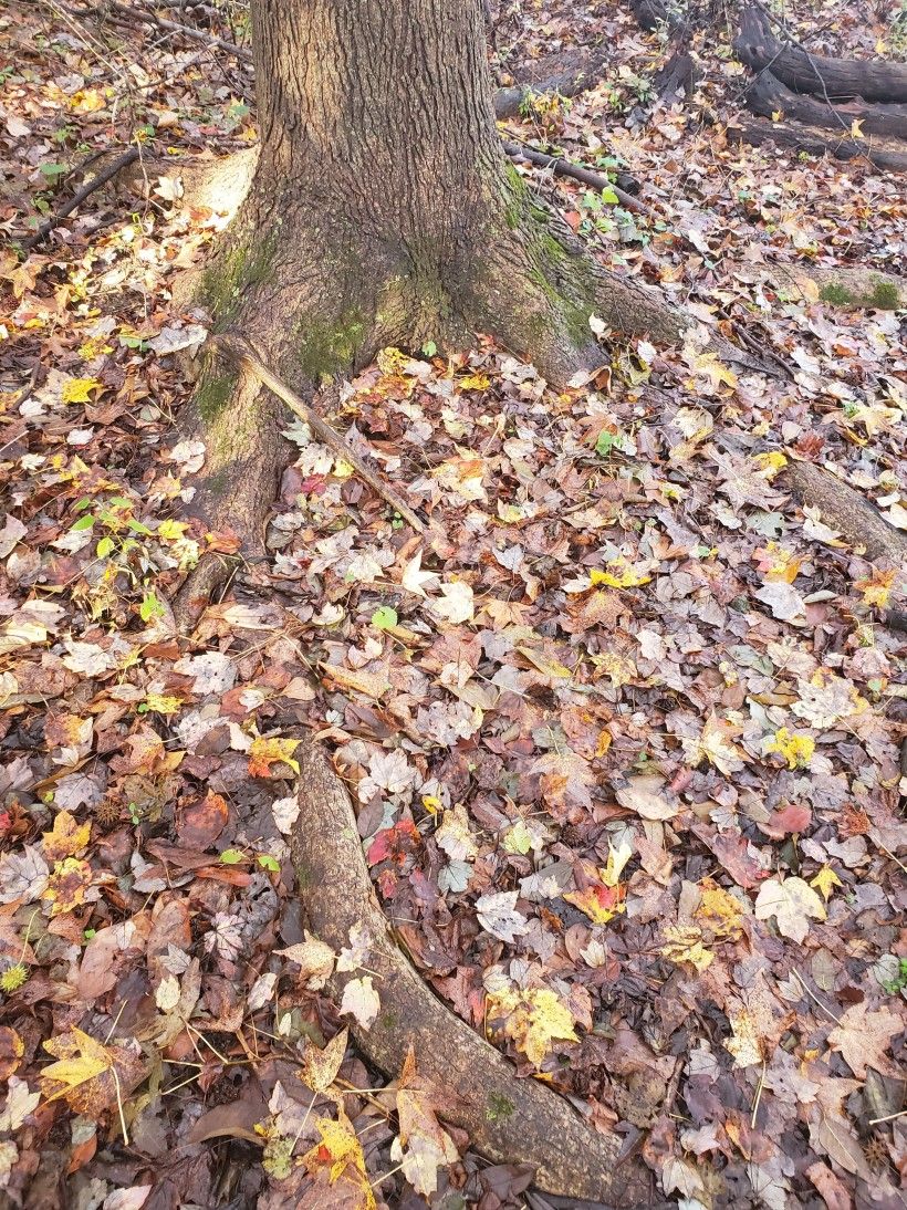
[[[103,1045],[75,1026],[69,1033],[48,1038],[44,1048],[57,1059],[37,1077],[45,1099],[65,1097],[71,1110],[93,1120],[117,1101],[122,1104],[144,1071],[139,1053]]]

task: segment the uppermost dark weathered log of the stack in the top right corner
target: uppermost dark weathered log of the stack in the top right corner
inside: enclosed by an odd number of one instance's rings
[[[750,5],[740,19],[734,51],[755,71],[769,68],[795,92],[811,92],[827,100],[907,102],[907,64],[828,58],[810,54],[790,39],[779,41],[763,8]]]

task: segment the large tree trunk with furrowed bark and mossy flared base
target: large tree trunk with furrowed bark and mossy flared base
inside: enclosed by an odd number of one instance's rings
[[[386,345],[496,336],[565,381],[601,362],[595,311],[676,340],[652,295],[587,258],[524,185],[495,126],[480,0],[258,0],[261,152],[203,275],[215,330],[235,327],[300,393]],[[184,434],[207,446],[193,501],[261,546],[276,402],[208,364]]]

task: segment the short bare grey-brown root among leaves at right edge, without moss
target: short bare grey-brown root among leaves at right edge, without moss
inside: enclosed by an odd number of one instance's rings
[[[890,525],[866,497],[813,462],[792,462],[785,469],[786,486],[822,522],[854,547],[862,547],[873,563],[907,558],[907,534]]]

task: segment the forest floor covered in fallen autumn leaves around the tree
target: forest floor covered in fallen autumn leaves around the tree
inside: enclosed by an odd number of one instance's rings
[[[179,519],[202,462],[172,444],[180,357],[204,317],[169,292],[225,217],[150,179],[24,258],[7,244],[0,1205],[550,1204],[444,1131],[411,1073],[386,1087],[345,1053],[381,989],[365,962],[333,1004],[334,956],[304,932],[301,724],[423,978],[635,1146],[660,1194],[903,1204],[907,634],[884,624],[903,581],[784,488],[821,463],[907,530],[899,313],[784,275],[903,265],[903,178],[735,142],[726,33],[697,44],[698,99],[665,105],[665,45],[628,7],[513,7],[502,82],[574,44],[610,67],[508,137],[619,157],[658,218],[535,184],[608,264],[792,373],[605,333],[601,371],[556,393],[481,338],[385,351],[327,419],[445,536],[288,417],[270,557],[181,638],[168,597],[235,543]],[[787,6],[810,46],[903,54],[907,18],[818,7]],[[255,139],[248,67],[203,41],[47,2],[5,7],[0,53],[8,241],[93,152]]]

